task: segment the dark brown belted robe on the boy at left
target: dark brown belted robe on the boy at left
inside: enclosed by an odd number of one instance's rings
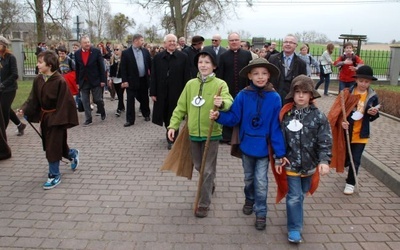
[[[38,75],[22,110],[29,122],[40,122],[47,160],[68,158],[66,131],[79,121],[74,98],[61,74],[55,72],[47,81]]]

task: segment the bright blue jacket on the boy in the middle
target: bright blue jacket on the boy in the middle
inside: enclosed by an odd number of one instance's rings
[[[269,87],[269,90],[268,90]],[[269,155],[268,140],[276,158],[286,154],[285,142],[279,124],[281,98],[268,83],[258,88],[249,87],[236,96],[229,111],[220,111],[217,122],[225,126],[239,125],[240,149],[246,155],[262,158]]]

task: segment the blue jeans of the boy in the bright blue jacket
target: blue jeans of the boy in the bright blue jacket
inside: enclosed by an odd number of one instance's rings
[[[244,194],[247,201],[254,202],[256,217],[267,216],[268,164],[269,158],[242,155],[244,169]]]

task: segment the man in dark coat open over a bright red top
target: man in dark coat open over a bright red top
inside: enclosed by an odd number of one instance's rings
[[[107,82],[104,58],[99,49],[93,47],[88,36],[80,39],[81,48],[75,52],[76,83],[79,85],[85,119],[83,126],[92,124],[92,111],[90,108],[90,93],[101,120],[106,119],[103,101],[103,87]]]

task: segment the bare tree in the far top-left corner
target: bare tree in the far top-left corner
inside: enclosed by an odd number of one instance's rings
[[[14,23],[21,20],[22,6],[16,0],[0,2],[0,34],[7,33]]]

